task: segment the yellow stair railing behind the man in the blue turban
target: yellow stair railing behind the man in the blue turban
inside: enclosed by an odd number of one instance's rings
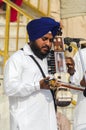
[[[49,1],[48,0],[48,7],[49,8]],[[34,19],[34,16],[31,14],[31,12],[25,10],[22,7],[17,6],[15,3],[13,3],[10,0],[3,0],[3,2],[6,3],[6,25],[5,25],[5,34],[4,34],[4,49],[0,50],[0,55],[3,57],[3,65],[5,64],[6,60],[9,57],[9,42],[10,42],[10,27],[13,23],[10,22],[10,9],[14,8],[18,12],[18,19],[15,23],[15,26],[17,28],[16,30],[16,50],[18,50],[18,40],[19,40],[19,29],[22,24],[20,23],[20,17],[21,15],[26,17],[26,22],[30,21],[31,19]],[[40,10],[40,0],[38,0],[37,7],[35,7],[29,0],[24,0],[23,4],[27,5],[32,9],[31,11],[38,13],[38,16],[48,16],[49,14],[49,9],[47,9],[47,12],[44,13],[42,10]],[[25,42],[28,41],[27,33],[25,34]]]

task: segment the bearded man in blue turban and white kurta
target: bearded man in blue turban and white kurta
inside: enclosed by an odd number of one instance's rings
[[[29,22],[30,43],[14,53],[5,65],[4,89],[9,97],[10,130],[57,130],[53,97],[45,80],[50,78],[46,57],[59,26],[49,17]]]

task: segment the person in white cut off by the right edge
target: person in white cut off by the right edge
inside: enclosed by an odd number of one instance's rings
[[[69,64],[72,66],[71,69],[70,67],[68,68],[68,70],[71,70],[70,72],[72,72],[71,82],[76,85],[81,85],[83,89],[85,88],[83,92],[79,90],[72,91],[75,94],[77,92],[77,96],[78,96],[77,104],[74,109],[73,130],[86,130],[86,116],[85,116],[85,113],[86,113],[86,72],[84,72],[86,70],[86,60],[84,60],[85,56],[86,56],[86,48],[83,48],[81,49],[82,59],[80,59],[80,55],[77,52],[74,56],[74,61],[72,59],[66,60],[68,67],[69,67]],[[85,69],[84,71],[83,71],[83,68]]]

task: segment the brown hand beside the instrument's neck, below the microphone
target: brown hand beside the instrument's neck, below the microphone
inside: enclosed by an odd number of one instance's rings
[[[72,76],[75,72],[75,63],[71,57],[66,57],[67,71]]]

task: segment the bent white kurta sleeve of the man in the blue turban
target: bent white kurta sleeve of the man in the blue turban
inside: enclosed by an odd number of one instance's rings
[[[17,60],[16,60],[17,59]],[[39,82],[22,80],[22,63],[18,58],[10,58],[4,70],[4,90],[8,96],[28,96],[40,90]],[[23,62],[23,61],[22,61]],[[29,76],[29,75],[27,75]],[[29,78],[29,77],[28,77]]]

